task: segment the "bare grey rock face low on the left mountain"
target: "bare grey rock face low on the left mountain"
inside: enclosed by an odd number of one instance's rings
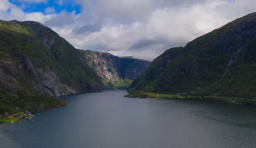
[[[77,92],[77,90],[73,90],[62,83],[60,78],[49,68],[45,70],[34,68],[27,57],[23,61],[23,65],[17,63],[16,60],[0,59],[0,87],[2,89],[15,93],[18,88],[23,88],[22,81],[17,81],[17,78],[22,78],[24,81],[31,83],[36,90],[50,96],[61,96]],[[23,75],[29,75],[29,77]]]

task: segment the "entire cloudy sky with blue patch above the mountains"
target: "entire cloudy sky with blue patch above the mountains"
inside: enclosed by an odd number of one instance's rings
[[[38,21],[78,49],[145,60],[252,12],[255,0],[0,0],[1,20]]]

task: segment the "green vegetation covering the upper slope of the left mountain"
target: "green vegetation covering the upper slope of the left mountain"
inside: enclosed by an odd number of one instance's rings
[[[99,76],[81,60],[79,50],[51,29],[30,21],[0,23],[1,53],[6,58],[29,58],[34,67],[53,70],[62,83],[76,90],[94,91],[89,85],[103,90]]]

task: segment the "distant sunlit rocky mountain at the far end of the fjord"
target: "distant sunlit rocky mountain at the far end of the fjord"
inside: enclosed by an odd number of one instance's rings
[[[126,89],[147,69],[150,62],[118,57],[108,52],[80,50],[81,57],[100,77],[106,89]]]

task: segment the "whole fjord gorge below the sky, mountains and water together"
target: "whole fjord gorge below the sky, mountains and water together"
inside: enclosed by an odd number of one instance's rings
[[[0,148],[256,148],[255,69],[256,13],[151,62],[0,20]]]

